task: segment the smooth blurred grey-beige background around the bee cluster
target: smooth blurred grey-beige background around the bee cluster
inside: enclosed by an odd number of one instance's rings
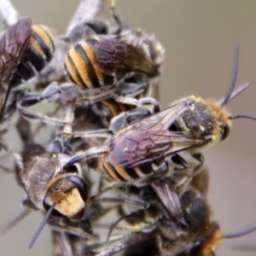
[[[173,1],[117,0],[123,20],[132,27],[154,32],[166,49],[160,102],[166,108],[183,96],[225,96],[233,72],[236,44],[240,45],[237,86],[256,80],[256,2],[240,0]],[[14,0],[22,16],[31,16],[62,33],[79,0]],[[1,1],[0,1],[1,4]],[[231,113],[256,115],[256,84],[228,108]],[[224,234],[256,225],[256,121],[237,119],[230,137],[205,153],[211,181],[209,202]],[[15,141],[9,138],[13,148]],[[11,174],[0,173],[0,224],[20,210],[23,191]],[[1,255],[49,255],[49,230],[45,228],[32,251],[28,251],[38,224],[39,212],[32,214],[0,238]],[[242,245],[254,252],[232,251]],[[256,255],[256,232],[223,241],[217,255]]]

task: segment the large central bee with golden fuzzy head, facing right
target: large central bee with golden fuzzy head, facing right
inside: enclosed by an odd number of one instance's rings
[[[236,49],[236,64],[238,49]],[[102,147],[78,152],[70,163],[100,157],[102,170],[115,183],[148,183],[170,175],[166,160],[178,160],[186,170],[189,165],[178,153],[189,152],[199,161],[188,177],[195,176],[204,163],[202,148],[228,137],[233,119],[256,119],[249,115],[231,115],[224,105],[238,96],[249,84],[233,93],[236,84],[237,65],[227,96],[221,102],[189,96],[173,103],[159,113],[135,121],[122,122],[129,113],[112,119],[109,130],[73,132],[80,137],[108,137]],[[233,93],[233,94],[232,94]],[[119,129],[119,127],[122,127]],[[177,159],[173,159],[173,157]],[[68,163],[67,163],[68,165]]]

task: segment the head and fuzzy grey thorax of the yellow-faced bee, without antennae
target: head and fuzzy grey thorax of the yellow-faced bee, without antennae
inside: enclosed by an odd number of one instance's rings
[[[54,215],[82,218],[89,196],[88,184],[81,177],[79,166],[63,170],[67,160],[66,154],[52,154],[32,144],[23,153],[24,168],[19,176],[38,209],[47,212],[55,203]]]

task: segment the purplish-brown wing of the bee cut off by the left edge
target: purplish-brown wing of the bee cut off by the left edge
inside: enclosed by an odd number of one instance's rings
[[[0,81],[15,72],[26,55],[32,31],[32,19],[23,18],[9,27],[0,39]]]

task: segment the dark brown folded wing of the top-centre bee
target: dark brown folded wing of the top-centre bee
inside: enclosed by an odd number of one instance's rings
[[[108,75],[139,72],[154,77],[158,73],[153,61],[119,38],[100,38],[94,45],[94,50],[98,65]]]

